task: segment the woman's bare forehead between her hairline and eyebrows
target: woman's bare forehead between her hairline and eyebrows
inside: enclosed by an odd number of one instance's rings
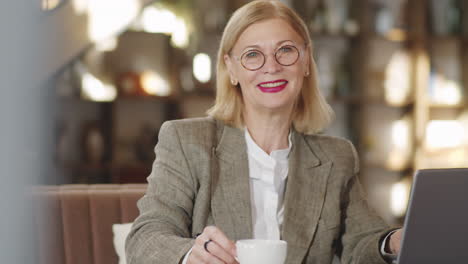
[[[291,40],[298,44],[304,42],[285,20],[281,18],[268,19],[247,27],[239,36],[233,49],[244,49],[252,45],[266,48],[284,40]]]

